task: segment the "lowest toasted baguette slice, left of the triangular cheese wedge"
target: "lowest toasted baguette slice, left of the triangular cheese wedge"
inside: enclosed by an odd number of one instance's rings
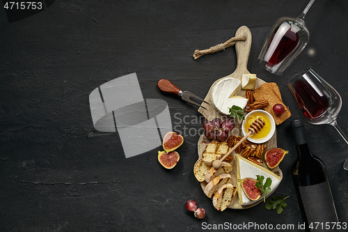
[[[216,210],[223,211],[230,205],[233,196],[235,196],[237,192],[237,187],[231,185],[230,183],[226,183],[219,187],[213,196],[213,206]]]

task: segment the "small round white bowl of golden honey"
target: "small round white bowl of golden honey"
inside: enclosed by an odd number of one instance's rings
[[[274,120],[273,120],[273,118],[271,118],[271,115],[268,115],[268,113],[266,111],[264,111],[264,110],[251,111],[246,116],[245,121],[243,123],[244,124],[244,131],[248,132],[248,128],[257,118],[261,118],[264,121],[264,127],[258,133],[251,134],[249,136],[249,138],[253,139],[255,141],[264,142],[263,141],[264,139],[268,140],[271,138],[271,136],[274,134],[274,130],[275,130]],[[271,121],[271,120],[273,120],[273,121]]]

